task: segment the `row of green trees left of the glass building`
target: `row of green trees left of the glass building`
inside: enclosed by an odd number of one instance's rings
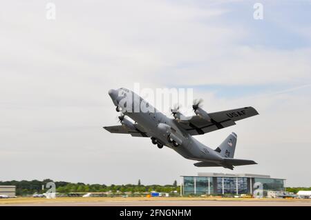
[[[70,193],[70,192],[180,192],[180,188],[177,186],[177,181],[174,181],[172,185],[149,185],[144,186],[138,181],[138,184],[126,184],[126,185],[114,185],[106,186],[105,184],[86,184],[86,183],[70,183],[66,181],[53,181],[52,179],[44,179],[43,181],[32,180],[32,181],[0,181],[0,185],[10,185],[16,186],[16,194],[19,196],[34,194],[34,193],[44,193],[47,188],[45,188],[46,183],[54,182],[56,186],[56,192],[59,193]],[[42,188],[44,186],[44,188]]]

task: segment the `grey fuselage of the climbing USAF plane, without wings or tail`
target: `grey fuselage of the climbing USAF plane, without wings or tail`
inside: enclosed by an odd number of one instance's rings
[[[207,162],[219,161],[220,163],[223,161],[223,157],[218,152],[194,139],[186,130],[178,128],[176,126],[178,122],[156,110],[150,103],[139,97],[138,94],[124,88],[109,90],[109,96],[117,108],[124,108],[124,106],[120,105],[121,99],[124,99],[124,93],[126,93],[126,97],[132,97],[132,102],[126,103],[126,110],[122,109],[123,114],[133,119],[139,126],[142,126],[149,137],[157,139],[163,146],[175,150],[186,159]],[[135,106],[141,106],[141,103],[144,103],[144,106],[148,106],[148,109],[151,109],[151,111],[135,112]],[[169,128],[174,131],[179,139],[182,139],[182,143],[178,147],[173,146],[167,139]]]

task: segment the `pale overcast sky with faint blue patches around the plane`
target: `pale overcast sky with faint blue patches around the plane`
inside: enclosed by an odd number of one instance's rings
[[[310,1],[7,1],[0,9],[0,180],[173,183],[197,172],[311,186]],[[110,134],[110,88],[194,88],[207,112],[256,117],[196,137],[254,166],[196,168],[150,139]],[[167,112],[169,106],[167,106]]]

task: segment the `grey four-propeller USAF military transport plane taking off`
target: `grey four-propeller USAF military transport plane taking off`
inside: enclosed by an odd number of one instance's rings
[[[233,170],[234,166],[257,164],[255,161],[234,159],[237,136],[234,132],[215,150],[194,139],[194,135],[205,134],[229,126],[236,121],[252,117],[258,112],[252,107],[237,108],[221,112],[207,113],[200,108],[201,100],[194,101],[192,108],[196,115],[185,117],[178,108],[172,109],[173,118],[156,110],[150,103],[126,88],[109,90],[120,126],[104,127],[111,133],[131,134],[133,137],[150,137],[158,148],[167,146],[182,157],[198,161],[197,167],[223,166]],[[130,117],[135,123],[126,119]]]

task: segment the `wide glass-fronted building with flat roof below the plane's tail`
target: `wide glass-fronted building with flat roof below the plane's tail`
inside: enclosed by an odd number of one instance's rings
[[[261,185],[261,186],[260,186]],[[285,179],[258,174],[224,174],[199,172],[197,176],[182,176],[181,194],[253,194],[258,187],[267,191],[285,191]]]

